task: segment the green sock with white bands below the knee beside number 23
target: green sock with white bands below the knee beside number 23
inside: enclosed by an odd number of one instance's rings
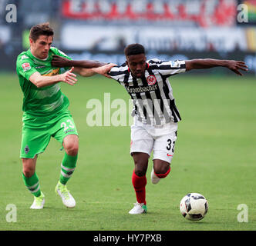
[[[77,161],[77,155],[67,155],[65,153],[64,158],[62,160],[61,165],[61,171],[59,176],[59,181],[62,184],[66,184],[67,181],[69,181],[69,178],[71,178],[72,173],[75,171],[76,168],[76,161]]]

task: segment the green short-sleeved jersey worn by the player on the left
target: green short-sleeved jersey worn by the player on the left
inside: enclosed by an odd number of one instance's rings
[[[60,90],[59,83],[54,85],[37,88],[29,77],[38,71],[42,76],[54,76],[61,73],[60,68],[52,67],[52,56],[59,55],[68,59],[66,54],[59,51],[58,48],[50,48],[49,56],[45,60],[35,58],[30,50],[22,52],[17,58],[17,74],[19,76],[19,85],[24,95],[22,110],[24,111],[23,121],[31,119],[52,118],[59,115],[69,106],[69,99]],[[65,68],[67,70],[68,68]]]

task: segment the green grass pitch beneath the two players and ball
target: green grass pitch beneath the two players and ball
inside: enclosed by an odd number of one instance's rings
[[[52,139],[37,162],[45,208],[32,211],[19,159],[22,91],[15,75],[1,75],[0,230],[255,230],[255,78],[177,75],[171,85],[183,120],[171,174],[157,185],[150,183],[150,159],[147,214],[128,214],[135,202],[130,127],[86,125],[90,98],[103,100],[111,92],[111,101],[129,99],[122,86],[102,77],[79,78],[74,87],[62,84],[79,130],[79,161],[68,185],[76,208],[64,208],[55,194],[63,152]],[[209,202],[202,221],[180,214],[180,199],[189,192]],[[17,222],[6,221],[8,204],[15,204]],[[248,205],[248,223],[237,221],[238,204]]]

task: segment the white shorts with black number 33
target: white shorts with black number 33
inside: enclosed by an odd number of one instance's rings
[[[153,151],[153,160],[160,159],[170,163],[174,154],[177,128],[177,123],[174,122],[152,126],[134,121],[131,125],[130,154],[142,152],[151,155]]]

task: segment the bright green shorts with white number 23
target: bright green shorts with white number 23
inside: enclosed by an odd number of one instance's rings
[[[34,158],[35,155],[45,151],[51,137],[56,138],[62,144],[67,135],[78,135],[76,125],[68,110],[48,118],[25,115],[23,116],[20,158]]]

